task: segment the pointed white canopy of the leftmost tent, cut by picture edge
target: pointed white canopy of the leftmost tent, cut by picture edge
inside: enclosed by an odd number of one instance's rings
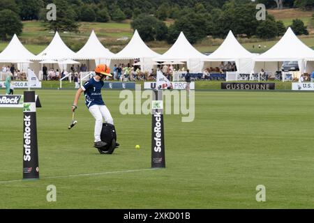
[[[0,62],[4,63],[21,63],[20,61],[29,61],[35,55],[29,52],[20,42],[19,38],[14,34],[12,40],[3,49],[0,54]]]

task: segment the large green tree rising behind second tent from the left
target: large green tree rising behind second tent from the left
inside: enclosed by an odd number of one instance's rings
[[[46,30],[56,31],[70,31],[78,32],[79,24],[75,22],[77,14],[70,8],[66,0],[54,0],[57,6],[57,20],[48,21],[46,17],[43,20],[43,26]],[[47,12],[47,10],[46,10]]]

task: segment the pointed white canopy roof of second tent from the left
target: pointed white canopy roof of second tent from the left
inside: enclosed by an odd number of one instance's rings
[[[73,59],[75,57],[75,52],[66,46],[61,40],[59,33],[56,32],[54,38],[52,39],[50,45],[46,47],[40,54],[33,57],[33,61],[42,60],[66,60]]]

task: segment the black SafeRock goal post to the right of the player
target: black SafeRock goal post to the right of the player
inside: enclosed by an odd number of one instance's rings
[[[151,115],[151,168],[164,168],[163,91],[153,91]]]

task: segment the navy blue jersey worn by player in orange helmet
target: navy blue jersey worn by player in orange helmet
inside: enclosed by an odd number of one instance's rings
[[[93,105],[105,105],[105,102],[103,102],[103,98],[101,97],[103,84],[103,81],[97,82],[93,77],[82,86],[85,95],[85,103],[88,108]]]

